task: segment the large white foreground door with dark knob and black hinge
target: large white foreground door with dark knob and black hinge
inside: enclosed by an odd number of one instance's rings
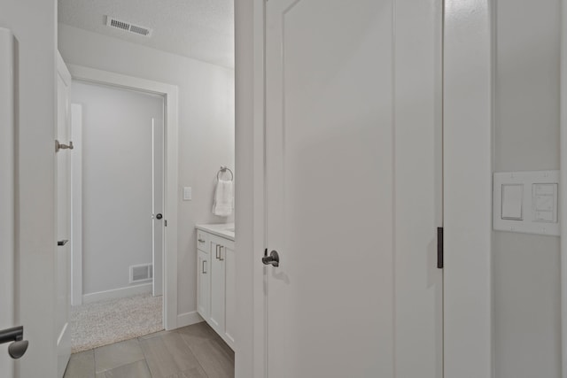
[[[269,378],[443,376],[441,4],[266,4]]]

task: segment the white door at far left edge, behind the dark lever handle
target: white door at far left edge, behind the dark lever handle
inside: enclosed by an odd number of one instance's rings
[[[0,330],[14,321],[14,43],[0,27]],[[13,376],[8,345],[0,345],[0,376]]]

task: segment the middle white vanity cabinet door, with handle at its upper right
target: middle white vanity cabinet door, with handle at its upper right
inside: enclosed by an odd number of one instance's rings
[[[211,315],[209,324],[219,334],[224,334],[224,258],[221,243],[211,241]]]

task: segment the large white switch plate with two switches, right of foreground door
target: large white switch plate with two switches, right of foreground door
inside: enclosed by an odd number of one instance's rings
[[[559,171],[493,176],[493,229],[559,235]]]

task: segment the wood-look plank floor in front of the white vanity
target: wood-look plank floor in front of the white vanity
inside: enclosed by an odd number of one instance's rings
[[[206,322],[73,354],[64,378],[234,378],[234,351]]]

